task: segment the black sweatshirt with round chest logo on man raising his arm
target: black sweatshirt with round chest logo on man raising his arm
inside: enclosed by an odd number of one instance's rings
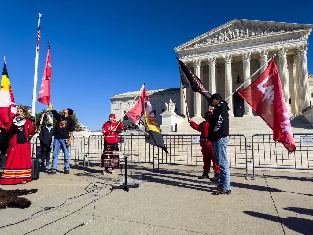
[[[54,127],[54,137],[61,139],[68,139],[69,132],[74,131],[75,123],[71,117],[65,117],[59,114],[57,111],[52,110],[53,117],[57,120]]]

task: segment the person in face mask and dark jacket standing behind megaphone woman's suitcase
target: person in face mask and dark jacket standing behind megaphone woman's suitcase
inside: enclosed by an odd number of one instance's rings
[[[50,166],[50,154],[51,154],[51,142],[53,136],[52,123],[48,121],[47,125],[41,129],[40,134],[38,135],[38,139],[40,140],[40,147],[41,147],[41,166]],[[44,162],[46,161],[46,165]]]

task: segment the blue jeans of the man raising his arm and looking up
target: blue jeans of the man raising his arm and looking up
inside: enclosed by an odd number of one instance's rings
[[[66,142],[68,141],[69,139],[66,139]],[[59,153],[60,153],[61,148],[64,153],[65,167],[63,169],[69,170],[69,147],[66,146],[65,139],[54,137],[51,171],[57,172],[58,158],[59,158]]]

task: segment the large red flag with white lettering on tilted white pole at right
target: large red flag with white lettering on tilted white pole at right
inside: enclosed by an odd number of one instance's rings
[[[238,93],[273,130],[273,139],[281,142],[289,153],[294,152],[295,140],[274,60],[256,81]]]

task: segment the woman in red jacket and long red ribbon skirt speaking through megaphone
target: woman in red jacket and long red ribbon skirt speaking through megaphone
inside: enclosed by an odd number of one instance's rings
[[[24,116],[25,110],[18,108],[16,113]],[[26,118],[25,124],[16,126],[12,123],[7,128],[10,135],[7,162],[1,175],[0,184],[26,184],[32,174],[31,150],[29,136],[33,134],[33,123]]]

